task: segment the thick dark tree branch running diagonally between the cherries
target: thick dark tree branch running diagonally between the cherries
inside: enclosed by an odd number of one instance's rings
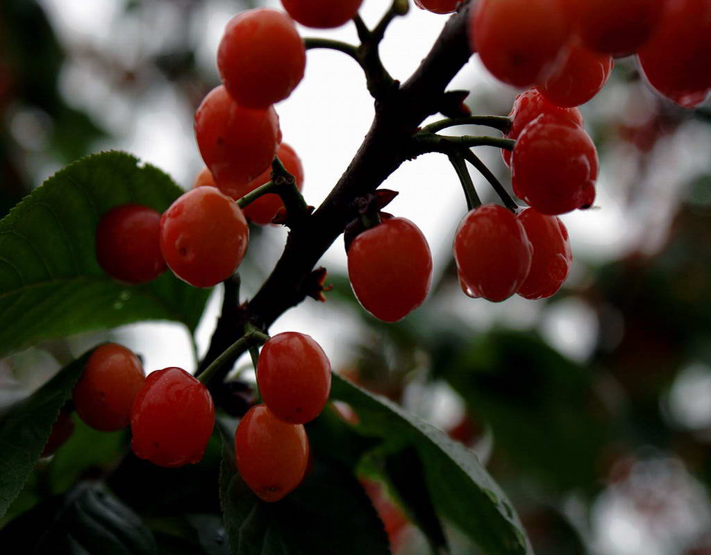
[[[432,50],[402,87],[391,87],[375,101],[375,119],[353,161],[328,195],[302,225],[289,232],[282,257],[260,291],[240,307],[228,332],[215,330],[208,357],[219,354],[243,333],[250,322],[267,331],[274,320],[292,306],[304,301],[307,279],[326,249],[356,217],[353,200],[372,193],[388,176],[411,157],[412,136],[422,120],[437,113],[437,105],[454,75],[471,55],[466,36],[466,21],[471,4],[449,18]],[[242,324],[242,325],[239,325]],[[225,372],[230,365],[225,366]]]

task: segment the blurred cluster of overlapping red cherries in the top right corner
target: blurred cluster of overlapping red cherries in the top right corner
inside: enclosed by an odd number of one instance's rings
[[[636,54],[658,92],[691,108],[711,90],[710,16],[707,0],[481,0],[469,39],[494,77],[557,106],[587,102],[612,57]]]

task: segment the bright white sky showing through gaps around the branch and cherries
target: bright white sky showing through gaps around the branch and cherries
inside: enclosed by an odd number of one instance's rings
[[[147,11],[145,6],[154,6],[155,9],[153,17],[147,19],[119,17],[124,0],[42,0],[41,3],[48,11],[60,40],[70,49],[91,46],[111,53],[129,68],[141,56],[151,55],[159,51],[161,45],[171,41],[169,32],[175,28],[175,22],[169,19],[172,10],[166,9],[165,3],[159,1],[144,3],[144,8],[139,11],[143,16]],[[277,0],[269,0],[265,4],[280,8]],[[389,4],[386,0],[365,0],[361,15],[372,26]],[[225,23],[237,11],[240,11],[240,4],[235,1],[206,2],[205,9],[198,13],[196,21],[191,22],[191,32],[202,38],[197,52],[198,63],[205,68],[213,68],[215,85],[218,84],[215,69],[217,46]],[[385,67],[393,77],[405,80],[410,76],[445,21],[447,16],[430,14],[414,5],[410,14],[393,21],[381,46]],[[356,43],[352,23],[332,31],[306,28],[299,28],[299,31],[302,36]],[[486,75],[476,56],[450,88],[472,86],[479,90],[496,91],[496,94],[512,100],[515,95],[514,90]],[[95,150],[125,149],[163,169],[183,187],[191,185],[202,167],[193,136],[192,107],[176,95],[170,82],[164,81],[158,87],[151,87],[150,91],[139,93],[139,97],[127,98],[115,94],[105,75],[102,76],[101,68],[87,60],[75,58],[69,60],[65,67],[62,90],[70,104],[87,109],[114,134],[115,139],[111,143],[98,144]],[[584,107],[583,112],[586,117],[588,114],[602,114],[627,121],[635,118],[643,120],[648,117],[652,95],[646,91],[641,97],[631,99],[626,90],[607,87],[591,103],[594,108]],[[307,54],[304,80],[289,99],[277,104],[276,109],[284,140],[294,146],[304,164],[306,201],[318,206],[348,166],[373,118],[373,100],[365,89],[362,72],[353,60],[342,53],[311,50]],[[454,134],[456,131],[447,132]],[[587,273],[579,261],[599,264],[619,257],[633,247],[653,252],[661,244],[675,208],[676,184],[683,182],[680,173],[685,171],[687,176],[692,176],[708,167],[709,161],[703,149],[696,146],[699,141],[710,142],[711,137],[707,127],[694,124],[687,126],[673,139],[662,141],[658,146],[658,156],[654,157],[655,166],[650,172],[651,183],[647,184],[654,194],[648,195],[646,203],[636,206],[636,213],[629,212],[625,204],[632,185],[626,180],[631,174],[630,157],[621,151],[606,159],[598,185],[596,204],[599,209],[562,217],[570,231],[574,258],[578,261],[570,281],[580,281]],[[486,147],[480,153],[488,161],[496,161],[498,156],[498,151]],[[35,176],[37,182],[56,169],[42,167],[39,175]],[[488,185],[474,171],[472,176],[480,193],[488,190]],[[384,186],[400,191],[387,211],[409,218],[427,237],[437,279],[437,274],[441,273],[451,257],[454,229],[466,210],[459,182],[447,158],[430,154],[407,162]],[[274,241],[273,251],[266,258],[275,261],[282,250],[286,233],[277,227],[270,227],[267,233]],[[337,239],[325,254],[321,265],[331,271],[346,270],[342,238]],[[264,270],[269,271],[269,268]],[[247,284],[243,296],[253,294],[255,291],[252,289]],[[218,316],[218,297],[219,294],[213,296],[198,330],[198,343],[202,349],[208,343]],[[555,303],[545,313],[541,306],[542,303],[518,297],[493,304],[462,295],[452,298],[449,304],[445,301],[442,308],[470,321],[479,329],[496,321],[520,328],[537,326],[542,335],[561,352],[576,360],[585,360],[597,337],[597,318],[591,309],[574,299]],[[329,303],[307,300],[280,318],[271,333],[299,330],[312,335],[323,345],[334,367],[338,368],[348,361],[349,353],[344,346],[350,343],[351,335],[358,333],[359,326],[357,318],[338,311],[337,306],[334,308]],[[188,335],[181,325],[141,323],[121,328],[118,335],[126,345],[144,355],[147,371],[167,366],[193,368]],[[82,345],[82,341],[80,339],[77,343],[77,350],[90,347],[96,342],[96,336],[86,338],[87,342],[92,342],[89,345]],[[707,370],[703,375],[705,387],[709,387],[710,379]],[[693,384],[689,387],[693,388]],[[675,394],[677,397],[674,397]],[[675,390],[671,401],[678,397]],[[680,403],[672,403],[672,410],[674,406],[680,406]],[[704,416],[708,421],[707,412]],[[693,420],[693,415],[688,418]],[[613,493],[609,493],[608,497]],[[662,544],[645,541],[644,527],[629,524],[634,519],[634,513],[621,510],[617,497],[602,499],[596,507],[595,517],[599,547],[602,548],[600,552],[613,555],[665,554]],[[705,517],[709,518],[708,515]]]

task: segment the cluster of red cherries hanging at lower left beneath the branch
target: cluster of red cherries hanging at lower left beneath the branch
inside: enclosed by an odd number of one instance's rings
[[[257,362],[263,404],[247,411],[235,432],[237,468],[264,501],[277,501],[306,474],[309,441],[304,424],[319,416],[331,391],[331,363],[309,335],[269,338]],[[215,426],[215,406],[203,382],[169,367],[145,377],[139,358],[116,343],[97,347],[72,392],[73,408],[88,426],[118,431],[131,426],[139,458],[166,468],[199,463]],[[73,431],[63,408],[42,456]]]

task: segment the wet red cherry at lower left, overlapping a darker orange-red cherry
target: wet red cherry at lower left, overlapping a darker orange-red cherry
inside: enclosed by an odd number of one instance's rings
[[[174,468],[199,463],[215,425],[208,389],[182,368],[151,372],[131,411],[131,447],[139,458]]]

